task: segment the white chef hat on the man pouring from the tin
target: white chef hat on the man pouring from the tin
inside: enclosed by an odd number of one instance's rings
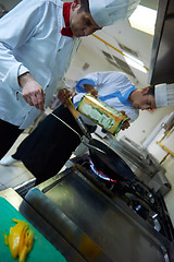
[[[159,84],[154,86],[157,107],[174,106],[174,84]]]

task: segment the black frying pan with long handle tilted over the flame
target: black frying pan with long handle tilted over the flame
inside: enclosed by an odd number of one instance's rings
[[[89,155],[96,168],[112,179],[126,181],[134,180],[135,175],[129,166],[107,144],[91,138],[71,99],[66,99],[66,106],[74,116],[85,136],[89,140],[89,144],[86,145],[89,147]]]

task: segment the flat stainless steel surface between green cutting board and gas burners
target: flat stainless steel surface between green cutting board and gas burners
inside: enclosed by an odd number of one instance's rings
[[[64,226],[58,225],[59,216],[63,213],[69,219],[65,235],[70,225],[73,241],[76,241],[78,235],[76,230],[79,230],[91,239],[90,245],[92,242],[97,245],[114,262],[169,261],[166,251],[169,241],[164,237],[149,227],[124,202],[116,196],[112,200],[75,168],[65,170],[60,178],[58,176],[57,179],[49,180],[49,183],[38,188],[45,192],[44,194],[37,190],[44,198],[40,200],[38,196],[28,198],[27,201],[39,210],[41,216],[47,216],[47,221],[54,222],[59,230]],[[46,199],[49,201],[45,201]],[[61,212],[55,211],[55,206]]]

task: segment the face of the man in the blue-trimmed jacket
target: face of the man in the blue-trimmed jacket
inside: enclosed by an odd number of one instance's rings
[[[156,100],[153,95],[148,94],[149,87],[138,91],[138,95],[133,100],[133,107],[136,109],[156,109]]]

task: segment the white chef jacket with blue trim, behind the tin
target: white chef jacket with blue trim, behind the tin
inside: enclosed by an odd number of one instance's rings
[[[98,91],[98,98],[105,102],[111,107],[119,111],[125,111],[130,118],[129,122],[133,122],[138,118],[139,111],[133,108],[132,104],[127,102],[128,96],[136,90],[136,87],[124,73],[115,71],[95,72],[79,80],[76,84],[76,91],[78,94],[73,98],[75,107],[77,107],[84,93],[86,93],[84,84],[92,85]],[[95,124],[85,116],[80,116],[86,123],[91,126]]]

